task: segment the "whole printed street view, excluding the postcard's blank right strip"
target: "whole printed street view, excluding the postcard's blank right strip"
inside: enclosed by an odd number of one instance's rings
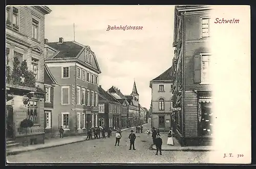
[[[7,162],[209,162],[210,8],[135,8],[6,7]]]

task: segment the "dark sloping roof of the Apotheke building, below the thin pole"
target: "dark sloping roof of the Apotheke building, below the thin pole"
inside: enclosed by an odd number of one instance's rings
[[[73,41],[66,41],[63,43],[49,42],[47,45],[59,51],[53,58],[76,58],[77,54],[83,49],[83,46],[78,45]]]

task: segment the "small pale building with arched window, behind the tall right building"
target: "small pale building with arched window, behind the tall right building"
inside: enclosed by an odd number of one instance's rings
[[[152,126],[160,131],[169,131],[172,114],[172,67],[150,81],[152,91]]]

